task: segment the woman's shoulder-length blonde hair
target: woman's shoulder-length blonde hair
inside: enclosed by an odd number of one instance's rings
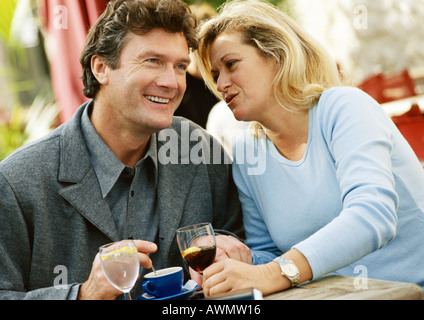
[[[312,107],[322,92],[340,85],[337,64],[327,51],[274,5],[258,0],[224,3],[219,14],[202,24],[197,59],[209,89],[220,97],[211,74],[210,48],[223,32],[241,31],[279,70],[273,82],[279,104],[289,110]]]

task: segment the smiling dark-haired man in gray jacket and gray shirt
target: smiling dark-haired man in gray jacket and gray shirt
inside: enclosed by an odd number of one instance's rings
[[[220,256],[250,255],[224,235],[241,218],[222,149],[173,118],[195,26],[179,0],[109,3],[81,55],[93,100],[0,164],[0,298],[115,299],[99,246],[131,237],[143,272],[182,265],[175,230],[198,222],[222,229]]]

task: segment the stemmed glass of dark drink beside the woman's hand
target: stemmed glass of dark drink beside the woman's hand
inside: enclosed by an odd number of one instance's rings
[[[212,225],[208,222],[177,229],[177,242],[183,259],[200,273],[215,260],[216,241]]]

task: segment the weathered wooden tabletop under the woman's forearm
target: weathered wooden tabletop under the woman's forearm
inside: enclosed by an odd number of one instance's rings
[[[299,287],[265,296],[265,300],[423,300],[411,283],[326,276]]]

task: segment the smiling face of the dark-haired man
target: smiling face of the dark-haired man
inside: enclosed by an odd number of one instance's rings
[[[118,68],[107,68],[99,102],[115,125],[132,133],[167,128],[183,98],[189,63],[182,33],[162,29],[145,35],[130,33]]]

